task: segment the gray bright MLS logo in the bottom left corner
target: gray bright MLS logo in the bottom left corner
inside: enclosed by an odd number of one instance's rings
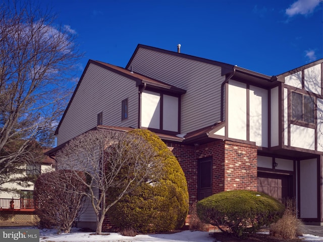
[[[0,241],[38,242],[39,229],[0,229]]]

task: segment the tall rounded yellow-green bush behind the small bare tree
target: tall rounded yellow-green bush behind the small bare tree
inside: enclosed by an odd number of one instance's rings
[[[184,172],[173,153],[158,136],[148,130],[134,130],[155,149],[163,163],[163,175],[147,180],[125,195],[108,212],[111,222],[121,229],[139,232],[163,232],[183,226],[188,213],[188,190]],[[118,192],[111,190],[110,196]]]

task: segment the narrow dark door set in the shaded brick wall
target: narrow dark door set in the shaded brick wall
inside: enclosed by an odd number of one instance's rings
[[[198,200],[212,195],[212,157],[197,160]]]

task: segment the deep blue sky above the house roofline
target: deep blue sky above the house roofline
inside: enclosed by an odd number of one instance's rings
[[[125,67],[138,43],[279,75],[323,58],[319,0],[44,0],[88,59]]]

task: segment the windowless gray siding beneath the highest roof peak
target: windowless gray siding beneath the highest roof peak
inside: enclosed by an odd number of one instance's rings
[[[187,90],[182,95],[181,133],[221,119],[221,67],[140,48],[129,66],[134,72]]]

